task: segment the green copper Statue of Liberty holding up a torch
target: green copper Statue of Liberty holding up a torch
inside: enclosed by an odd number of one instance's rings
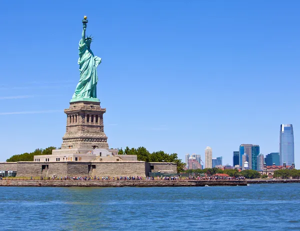
[[[90,50],[92,37],[85,37],[86,16],[82,20],[83,30],[82,38],[79,41],[79,59],[80,79],[76,86],[71,102],[75,101],[95,101],[98,102],[96,85],[98,81],[97,66],[101,63],[101,58],[95,56]]]

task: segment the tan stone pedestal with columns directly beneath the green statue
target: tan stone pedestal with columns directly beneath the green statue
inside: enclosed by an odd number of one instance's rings
[[[66,131],[62,137],[61,149],[108,149],[103,126],[105,112],[106,109],[100,107],[100,102],[70,102],[70,107],[64,110]]]

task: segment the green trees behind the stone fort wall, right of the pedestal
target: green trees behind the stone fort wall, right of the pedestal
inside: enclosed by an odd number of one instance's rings
[[[167,154],[163,151],[150,153],[144,147],[138,147],[136,149],[126,147],[124,150],[121,148],[118,149],[118,155],[136,155],[138,161],[145,162],[173,162],[177,164],[177,172],[182,172],[185,166],[182,160],[178,159],[176,153]]]

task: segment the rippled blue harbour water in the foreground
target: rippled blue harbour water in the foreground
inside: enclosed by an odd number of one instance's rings
[[[300,230],[300,184],[0,187],[1,231]]]

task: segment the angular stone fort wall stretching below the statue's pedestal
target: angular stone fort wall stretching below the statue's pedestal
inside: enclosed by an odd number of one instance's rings
[[[151,170],[153,167],[153,170]],[[78,177],[78,176],[140,176],[149,172],[176,173],[175,163],[147,163],[142,161],[65,161],[0,163],[0,170],[16,171],[17,177]]]

